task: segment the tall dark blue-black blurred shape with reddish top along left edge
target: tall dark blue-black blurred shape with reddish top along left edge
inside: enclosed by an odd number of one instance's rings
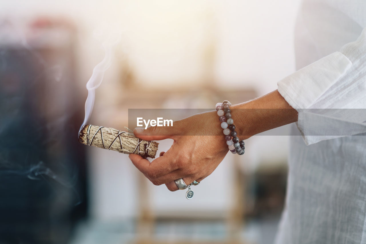
[[[8,33],[0,39],[1,244],[67,243],[87,214],[75,29],[66,23],[0,23]]]

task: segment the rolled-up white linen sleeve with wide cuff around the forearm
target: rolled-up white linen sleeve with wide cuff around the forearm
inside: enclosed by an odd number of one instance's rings
[[[366,132],[366,28],[354,42],[278,82],[307,145]]]

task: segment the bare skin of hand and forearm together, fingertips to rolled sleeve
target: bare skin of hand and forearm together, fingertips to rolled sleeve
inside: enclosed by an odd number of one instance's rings
[[[231,108],[240,140],[298,120],[297,111],[277,90]],[[154,185],[165,184],[171,191],[178,190],[174,180],[179,178],[187,185],[206,178],[228,152],[216,111],[175,121],[172,127],[135,129],[134,133],[143,140],[174,140],[171,148],[151,163],[136,154],[129,156]]]

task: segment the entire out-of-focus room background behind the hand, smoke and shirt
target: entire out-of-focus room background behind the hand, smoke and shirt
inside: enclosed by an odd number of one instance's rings
[[[286,136],[247,140],[190,201],[77,138],[108,33],[122,36],[90,122],[123,130],[128,108],[213,108],[275,90],[295,69],[299,4],[0,0],[0,244],[272,243]]]

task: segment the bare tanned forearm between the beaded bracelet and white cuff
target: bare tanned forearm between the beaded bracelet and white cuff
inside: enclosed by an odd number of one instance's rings
[[[231,114],[240,139],[247,139],[298,119],[298,112],[277,90],[257,99],[232,105]]]

